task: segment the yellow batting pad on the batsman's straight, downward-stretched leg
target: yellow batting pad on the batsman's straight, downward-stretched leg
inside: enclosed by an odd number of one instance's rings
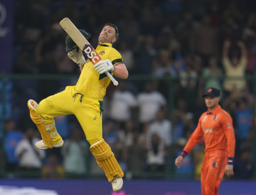
[[[116,177],[123,177],[122,169],[105,140],[91,145],[90,151],[96,158],[100,168],[105,172],[109,182],[112,182]]]

